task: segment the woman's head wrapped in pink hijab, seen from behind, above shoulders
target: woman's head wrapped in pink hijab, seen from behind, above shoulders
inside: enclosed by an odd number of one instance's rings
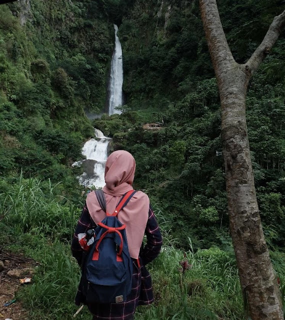
[[[105,166],[106,187],[113,190],[124,182],[132,184],[134,171],[135,160],[129,152],[124,150],[112,152],[108,156]]]

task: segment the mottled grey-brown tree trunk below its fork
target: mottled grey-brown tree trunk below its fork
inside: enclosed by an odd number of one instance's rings
[[[235,74],[232,73],[232,76]],[[280,290],[256,200],[245,120],[246,89],[240,84],[220,88],[230,232],[245,307],[252,320],[283,320]]]

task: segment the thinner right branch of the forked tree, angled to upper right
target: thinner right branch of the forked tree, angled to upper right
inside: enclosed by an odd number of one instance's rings
[[[252,53],[251,57],[245,63],[245,68],[249,72],[250,77],[258,68],[259,64],[264,60],[270,49],[276,42],[278,36],[281,33],[282,28],[285,26],[285,10],[274,17],[269,29],[264,36],[263,41]]]

